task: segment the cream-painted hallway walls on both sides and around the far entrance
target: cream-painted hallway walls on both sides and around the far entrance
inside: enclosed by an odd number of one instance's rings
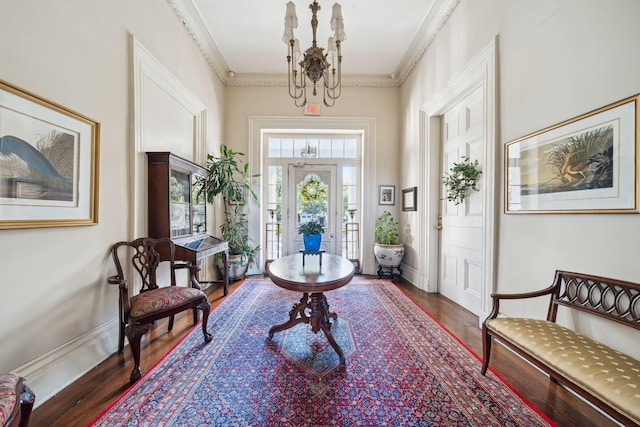
[[[638,16],[636,0],[462,0],[400,90],[346,88],[322,114],[375,118],[376,186],[396,185],[398,196],[418,184],[420,107],[497,35],[500,165],[505,142],[640,92]],[[100,223],[0,230],[0,371],[29,374],[37,404],[116,348],[117,297],[106,277],[109,246],[132,237],[130,34],[207,107],[210,152],[220,141],[245,148],[249,116],[302,115],[283,88],[223,88],[166,2],[2,0],[0,79],[102,125]],[[498,212],[500,291],[545,286],[556,268],[640,276],[638,215]],[[399,203],[394,213],[406,222]],[[578,321],[640,357],[630,334]]]

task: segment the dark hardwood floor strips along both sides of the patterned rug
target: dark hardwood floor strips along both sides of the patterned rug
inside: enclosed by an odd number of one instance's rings
[[[230,285],[232,291],[242,282]],[[406,281],[397,285],[413,298],[440,324],[453,333],[471,351],[482,354],[478,318],[450,300],[425,293]],[[222,300],[222,289],[206,290],[212,308]],[[115,315],[115,313],[114,313]],[[176,317],[172,332],[166,321],[152,326],[142,340],[142,372],[148,371],[192,327],[190,313]],[[559,426],[603,427],[617,425],[599,411],[584,403],[559,385],[549,381],[543,373],[500,345],[494,345],[491,367],[531,404],[545,413]],[[96,366],[82,378],[40,405],[31,417],[32,427],[87,426],[129,387],[132,367],[128,346]],[[478,361],[480,369],[480,361]],[[37,396],[36,396],[37,402]]]

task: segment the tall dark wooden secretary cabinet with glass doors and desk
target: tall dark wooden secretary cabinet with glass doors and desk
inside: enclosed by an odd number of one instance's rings
[[[191,264],[222,253],[227,295],[229,245],[207,234],[207,170],[167,151],[147,152],[147,160],[149,236],[171,238],[176,259]]]

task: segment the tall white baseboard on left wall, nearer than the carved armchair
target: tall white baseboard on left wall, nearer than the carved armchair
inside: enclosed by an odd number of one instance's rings
[[[36,395],[37,408],[96,367],[118,347],[118,320],[113,319],[16,368]]]

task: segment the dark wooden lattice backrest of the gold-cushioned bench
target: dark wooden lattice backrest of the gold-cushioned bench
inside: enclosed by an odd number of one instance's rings
[[[547,320],[558,306],[586,311],[640,329],[640,284],[588,274],[556,271]]]

